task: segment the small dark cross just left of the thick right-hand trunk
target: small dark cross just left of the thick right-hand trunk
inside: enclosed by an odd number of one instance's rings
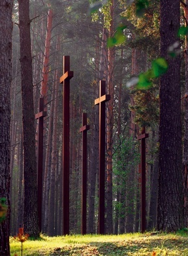
[[[137,137],[141,140],[141,232],[146,231],[146,138],[145,127],[142,134]]]

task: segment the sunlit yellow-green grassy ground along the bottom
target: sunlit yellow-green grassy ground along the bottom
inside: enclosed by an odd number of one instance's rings
[[[10,238],[11,256],[21,255],[21,242]],[[187,232],[164,234],[69,235],[49,237],[23,243],[23,256],[164,256],[188,255]]]

